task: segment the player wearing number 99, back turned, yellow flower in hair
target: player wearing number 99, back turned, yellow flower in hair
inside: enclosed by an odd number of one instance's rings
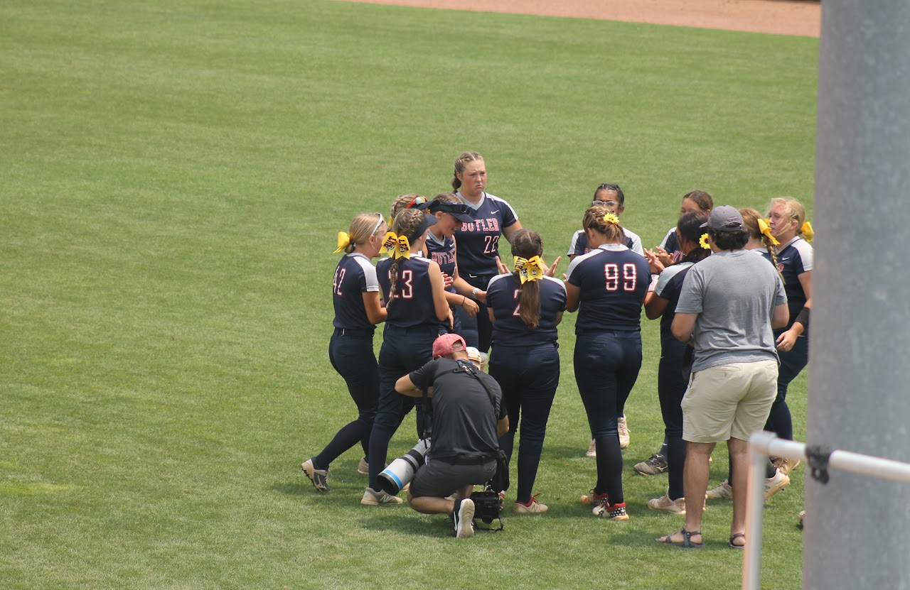
[[[575,381],[597,447],[597,483],[582,502],[595,515],[628,520],[617,419],[642,367],[641,315],[651,271],[623,245],[619,218],[594,205],[581,225],[594,249],[571,261],[566,309],[575,322]]]

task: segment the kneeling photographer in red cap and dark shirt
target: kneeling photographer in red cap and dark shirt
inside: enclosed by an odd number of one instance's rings
[[[413,397],[427,385],[433,398],[433,442],[410,483],[408,504],[424,515],[452,515],[457,537],[474,534],[471,490],[496,473],[498,439],[509,431],[499,384],[470,364],[466,349],[460,335],[441,335],[433,360],[395,384]],[[447,498],[456,492],[457,499]]]

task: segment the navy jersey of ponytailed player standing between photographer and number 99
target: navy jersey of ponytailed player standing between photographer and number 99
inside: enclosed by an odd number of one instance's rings
[[[541,294],[541,319],[533,330],[519,315],[521,285],[513,275],[496,275],[487,285],[487,306],[493,310],[493,346],[536,346],[559,337],[556,316],[565,311],[566,287],[562,281],[544,276],[535,281]],[[527,284],[525,284],[527,285]]]

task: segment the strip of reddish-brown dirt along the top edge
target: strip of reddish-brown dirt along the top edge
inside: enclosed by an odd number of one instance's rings
[[[818,2],[785,0],[340,0],[450,10],[575,16],[654,25],[817,37]]]

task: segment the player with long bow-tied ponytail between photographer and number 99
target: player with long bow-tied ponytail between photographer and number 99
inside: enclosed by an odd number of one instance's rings
[[[490,375],[500,384],[509,412],[512,426],[501,436],[500,448],[510,460],[515,431],[521,431],[518,497],[512,512],[528,515],[547,512],[547,506],[531,496],[531,489],[560,384],[556,326],[566,308],[566,289],[562,281],[547,275],[555,265],[549,269],[541,260],[543,241],[537,232],[521,229],[512,234],[511,252],[515,272],[494,276],[487,286],[494,351]]]

